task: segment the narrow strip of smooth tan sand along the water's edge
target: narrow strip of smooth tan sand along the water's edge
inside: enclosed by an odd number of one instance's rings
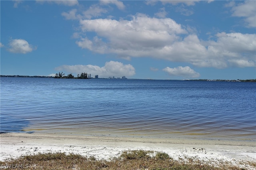
[[[106,134],[63,134],[63,133],[25,133],[25,132],[8,132],[0,133],[3,137],[14,138],[33,138],[49,141],[54,140],[74,140],[74,141],[103,141],[103,142],[141,142],[141,143],[162,143],[162,144],[210,144],[210,145],[230,145],[230,146],[252,146],[256,147],[256,141],[252,140],[223,140],[223,139],[206,139],[206,138],[181,138],[181,137],[159,137],[156,136],[127,136],[116,135],[110,136]],[[0,140],[2,143],[2,140]],[[65,143],[65,142],[64,142]]]

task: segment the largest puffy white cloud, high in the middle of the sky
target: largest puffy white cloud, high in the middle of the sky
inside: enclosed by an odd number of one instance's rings
[[[81,38],[76,43],[86,49],[100,53],[116,53],[120,56],[142,56],[152,49],[178,40],[176,34],[186,34],[186,30],[170,18],[149,18],[143,14],[132,20],[95,19],[80,20],[83,32],[96,32],[92,40]],[[108,43],[102,41],[107,39]]]

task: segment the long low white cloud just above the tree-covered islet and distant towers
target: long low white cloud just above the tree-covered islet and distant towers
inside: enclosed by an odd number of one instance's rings
[[[68,73],[80,74],[87,72],[99,77],[121,77],[135,75],[135,68],[130,64],[123,64],[118,61],[106,62],[103,67],[97,65],[61,65],[55,68],[58,71],[68,71]]]

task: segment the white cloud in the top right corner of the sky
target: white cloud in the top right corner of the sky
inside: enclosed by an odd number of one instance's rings
[[[256,1],[244,1],[237,6],[234,2],[230,2],[226,7],[232,7],[232,16],[243,17],[246,27],[256,27]]]

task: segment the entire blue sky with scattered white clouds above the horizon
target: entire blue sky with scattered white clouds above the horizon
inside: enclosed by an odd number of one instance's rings
[[[256,79],[256,1],[0,1],[1,75]]]

